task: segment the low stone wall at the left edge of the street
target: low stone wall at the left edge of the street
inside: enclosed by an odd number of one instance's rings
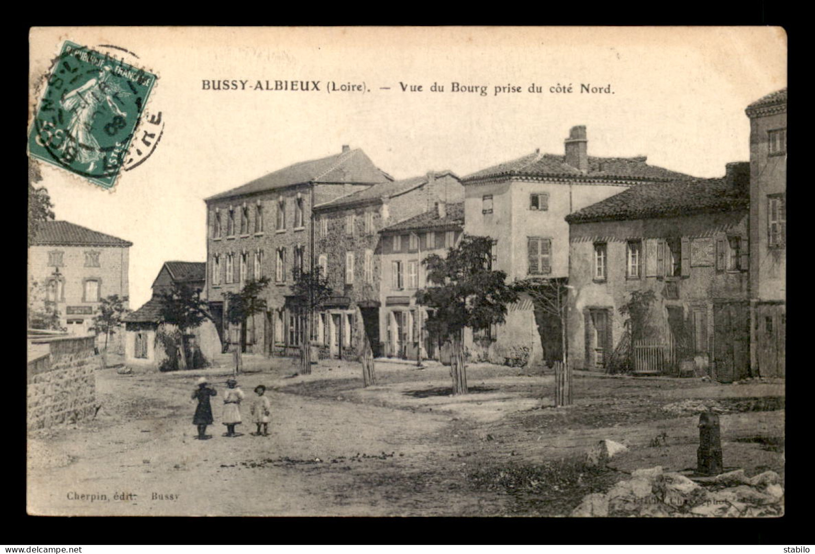
[[[50,354],[28,366],[29,431],[75,423],[96,413],[93,336],[42,339]]]

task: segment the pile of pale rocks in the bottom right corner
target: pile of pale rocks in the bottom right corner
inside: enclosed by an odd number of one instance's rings
[[[606,494],[588,494],[572,517],[776,517],[784,490],[776,472],[723,473],[706,486],[663,468],[638,469]]]

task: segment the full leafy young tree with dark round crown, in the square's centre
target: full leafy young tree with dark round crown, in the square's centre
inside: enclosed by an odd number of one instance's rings
[[[465,327],[478,330],[503,323],[507,304],[518,300],[518,293],[505,283],[506,273],[490,269],[491,250],[490,237],[465,235],[447,258],[431,254],[422,262],[434,286],[419,290],[416,302],[434,308],[428,330],[452,342],[453,394],[467,393]]]

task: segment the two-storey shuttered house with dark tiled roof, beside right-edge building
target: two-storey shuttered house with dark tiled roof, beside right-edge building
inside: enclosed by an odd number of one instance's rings
[[[735,162],[724,178],[641,184],[567,215],[574,366],[749,376],[749,197],[750,166]]]

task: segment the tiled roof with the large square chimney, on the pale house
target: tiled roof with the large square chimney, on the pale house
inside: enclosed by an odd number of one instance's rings
[[[645,156],[637,157],[588,157],[588,173],[566,163],[566,156],[557,154],[531,153],[511,162],[500,163],[497,166],[476,171],[462,179],[465,183],[476,179],[498,176],[557,176],[557,177],[589,177],[594,179],[638,179],[651,181],[665,181],[668,179],[693,179],[677,171],[667,170],[659,166],[650,166],[645,163]]]

